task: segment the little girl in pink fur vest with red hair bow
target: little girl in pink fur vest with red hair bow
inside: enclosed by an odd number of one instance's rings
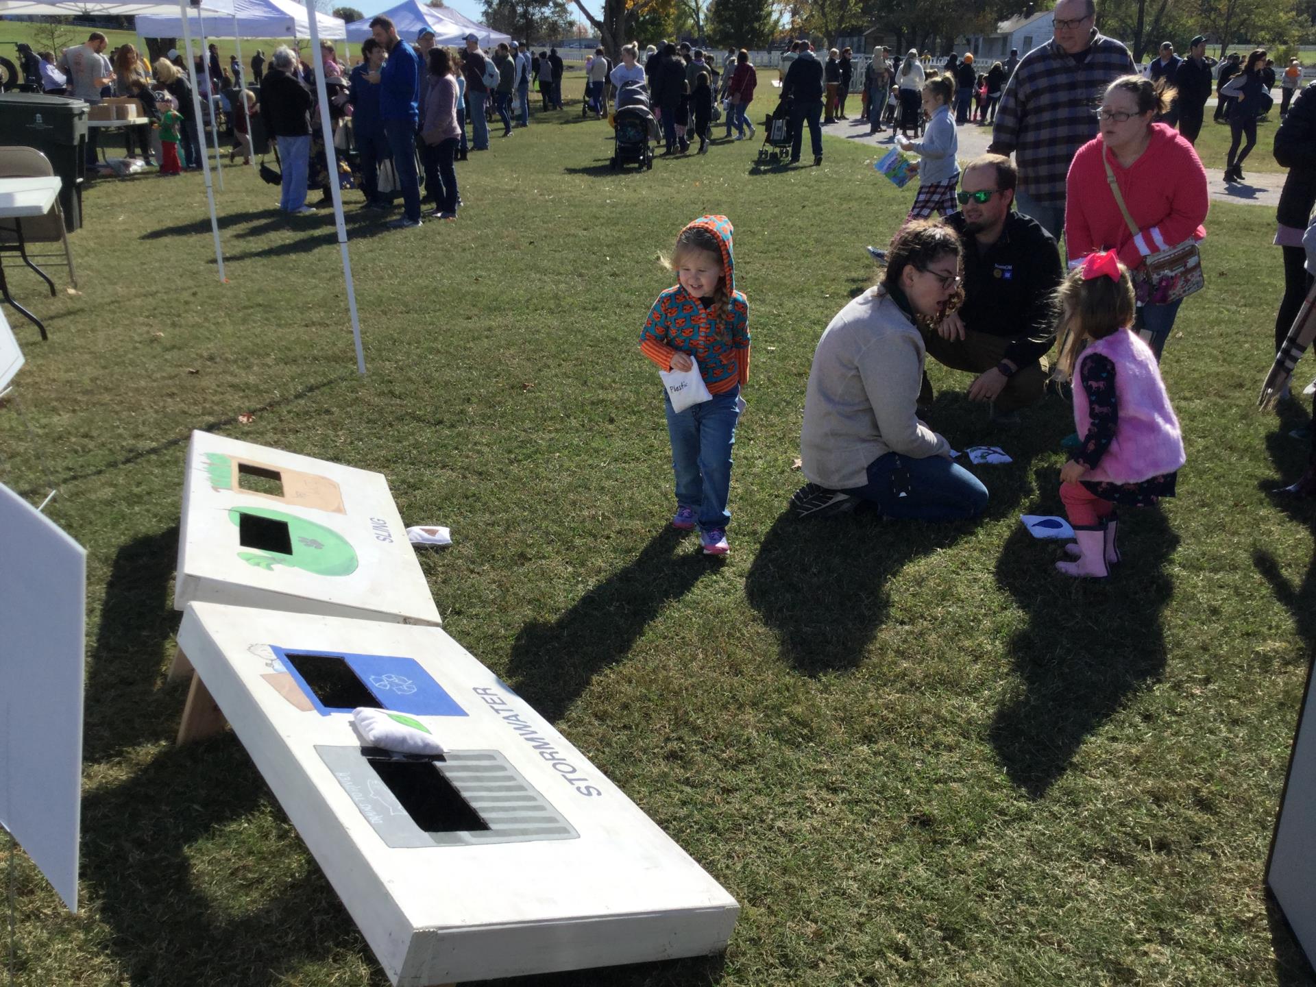
[[[1070,576],[1108,576],[1120,561],[1115,505],[1173,497],[1184,462],[1155,355],[1128,328],[1133,304],[1128,268],[1113,250],[1088,254],[1059,290],[1059,365],[1074,384],[1080,438],[1061,470],[1061,500],[1076,545],[1066,546],[1074,561],[1055,567]]]

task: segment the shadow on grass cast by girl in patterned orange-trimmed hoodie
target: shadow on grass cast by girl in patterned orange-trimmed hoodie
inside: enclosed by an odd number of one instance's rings
[[[720,565],[666,528],[625,569],[582,596],[551,624],[521,628],[508,678],[550,722],[559,720],[601,670],[621,661],[649,622]]]

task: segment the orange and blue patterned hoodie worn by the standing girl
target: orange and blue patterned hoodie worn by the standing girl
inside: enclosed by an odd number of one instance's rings
[[[659,370],[671,370],[671,358],[676,353],[687,353],[699,362],[708,391],[725,393],[749,380],[749,301],[736,291],[730,220],[725,216],[700,216],[686,229],[691,226],[700,226],[717,237],[722,249],[728,300],[712,311],[705,309],[676,282],[654,301],[640,333],[640,351]]]

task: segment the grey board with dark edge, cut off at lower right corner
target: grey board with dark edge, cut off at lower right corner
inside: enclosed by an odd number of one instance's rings
[[[1316,965],[1316,694],[1313,667],[1298,712],[1298,729],[1288,755],[1288,774],[1279,796],[1279,815],[1266,861],[1266,886],[1284,913],[1294,938]]]

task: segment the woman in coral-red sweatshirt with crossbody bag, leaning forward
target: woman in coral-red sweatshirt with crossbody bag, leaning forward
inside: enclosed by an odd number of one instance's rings
[[[1137,278],[1149,254],[1207,236],[1207,172],[1187,138],[1153,122],[1169,111],[1175,91],[1125,75],[1105,89],[1096,111],[1100,132],[1079,147],[1065,183],[1065,249],[1070,266],[1095,250],[1117,250]],[[1133,217],[1129,229],[1109,175]],[[1140,304],[1134,329],[1157,359],[1183,299]]]

